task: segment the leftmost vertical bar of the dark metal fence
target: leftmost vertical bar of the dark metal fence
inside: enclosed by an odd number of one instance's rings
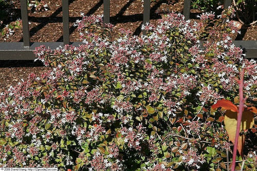
[[[23,46],[29,47],[29,21],[27,0],[21,0]]]

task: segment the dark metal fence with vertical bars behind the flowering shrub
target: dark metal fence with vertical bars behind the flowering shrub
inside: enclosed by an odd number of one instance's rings
[[[103,1],[103,22],[110,22],[110,0]],[[151,0],[144,0],[143,3],[143,24],[150,21]],[[231,0],[225,0],[224,8],[228,8]],[[185,0],[183,6],[183,15],[186,20],[190,16],[190,0]],[[71,43],[69,41],[69,3],[68,0],[62,0],[63,12],[63,42],[30,42],[29,41],[29,22],[27,0],[21,0],[21,14],[23,25],[23,42],[0,42],[0,60],[34,60],[33,50],[35,47],[45,45],[51,49],[55,49],[65,44],[78,46],[81,42]],[[236,46],[241,46],[246,51],[246,58],[257,58],[257,41],[234,41]]]

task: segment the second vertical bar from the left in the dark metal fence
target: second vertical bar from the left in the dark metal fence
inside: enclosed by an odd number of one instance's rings
[[[69,0],[62,0],[63,44],[69,45]]]

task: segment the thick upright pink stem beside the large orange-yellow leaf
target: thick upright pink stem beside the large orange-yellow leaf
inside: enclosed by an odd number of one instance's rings
[[[240,81],[238,81],[240,103],[239,103],[239,110],[237,111],[237,125],[236,125],[231,171],[235,170],[236,150],[237,150],[238,138],[239,138],[239,133],[240,133],[240,125],[241,125],[241,120],[242,120],[242,115],[243,115],[243,108],[244,108],[244,94],[243,94],[244,74],[245,74],[245,69],[242,70],[241,76],[240,76],[241,77]]]

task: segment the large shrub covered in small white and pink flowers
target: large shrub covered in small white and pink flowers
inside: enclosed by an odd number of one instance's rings
[[[256,62],[232,44],[225,12],[214,16],[170,13],[144,25],[147,35],[121,30],[115,41],[101,16],[84,16],[83,45],[36,48],[52,70],[1,93],[0,167],[226,170],[224,112],[211,105],[236,99],[234,77]],[[245,80],[251,103],[256,67]]]

